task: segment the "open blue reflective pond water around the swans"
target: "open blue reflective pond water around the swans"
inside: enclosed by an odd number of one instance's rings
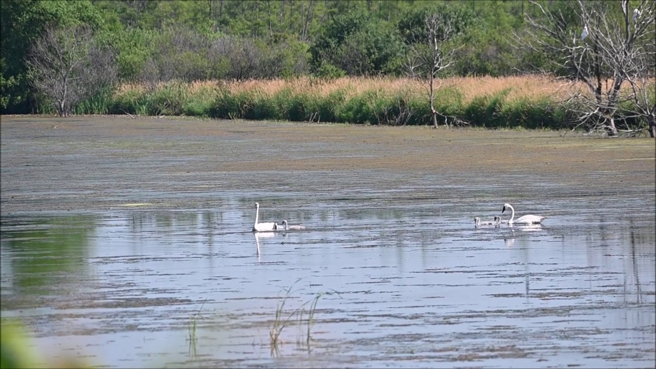
[[[5,215],[2,316],[45,353],[112,367],[654,366],[653,188],[513,201],[443,181]],[[306,229],[253,234],[256,201],[260,221]],[[474,228],[504,202],[549,217]]]

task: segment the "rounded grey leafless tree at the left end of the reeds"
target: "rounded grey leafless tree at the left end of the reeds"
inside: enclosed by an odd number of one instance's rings
[[[77,102],[115,82],[113,61],[112,53],[94,45],[86,26],[47,27],[28,56],[33,86],[62,117],[70,115]]]

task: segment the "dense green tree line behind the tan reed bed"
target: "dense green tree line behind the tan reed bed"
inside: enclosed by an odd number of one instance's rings
[[[526,0],[9,0],[0,7],[2,114],[38,111],[28,60],[49,27],[91,29],[94,42],[112,54],[117,81],[144,85],[403,76],[408,44],[426,9],[447,14],[462,45],[445,74],[508,76],[548,63],[508,42],[522,34],[523,14],[541,16]]]

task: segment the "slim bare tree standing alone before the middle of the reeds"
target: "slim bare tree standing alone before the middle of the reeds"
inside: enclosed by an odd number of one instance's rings
[[[410,77],[426,81],[431,119],[437,128],[439,113],[435,110],[435,95],[442,87],[438,74],[453,64],[453,55],[460,47],[449,45],[455,29],[447,16],[430,13],[424,18],[424,26],[425,32],[416,33],[411,40],[405,68]]]

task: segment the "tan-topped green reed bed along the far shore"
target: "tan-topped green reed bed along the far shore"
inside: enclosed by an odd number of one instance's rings
[[[546,76],[454,77],[440,79],[436,86],[440,123],[508,128],[571,127],[574,119],[559,102],[572,91],[585,91],[582,85],[564,85]],[[426,82],[391,77],[126,83],[79,104],[75,112],[430,124]]]

